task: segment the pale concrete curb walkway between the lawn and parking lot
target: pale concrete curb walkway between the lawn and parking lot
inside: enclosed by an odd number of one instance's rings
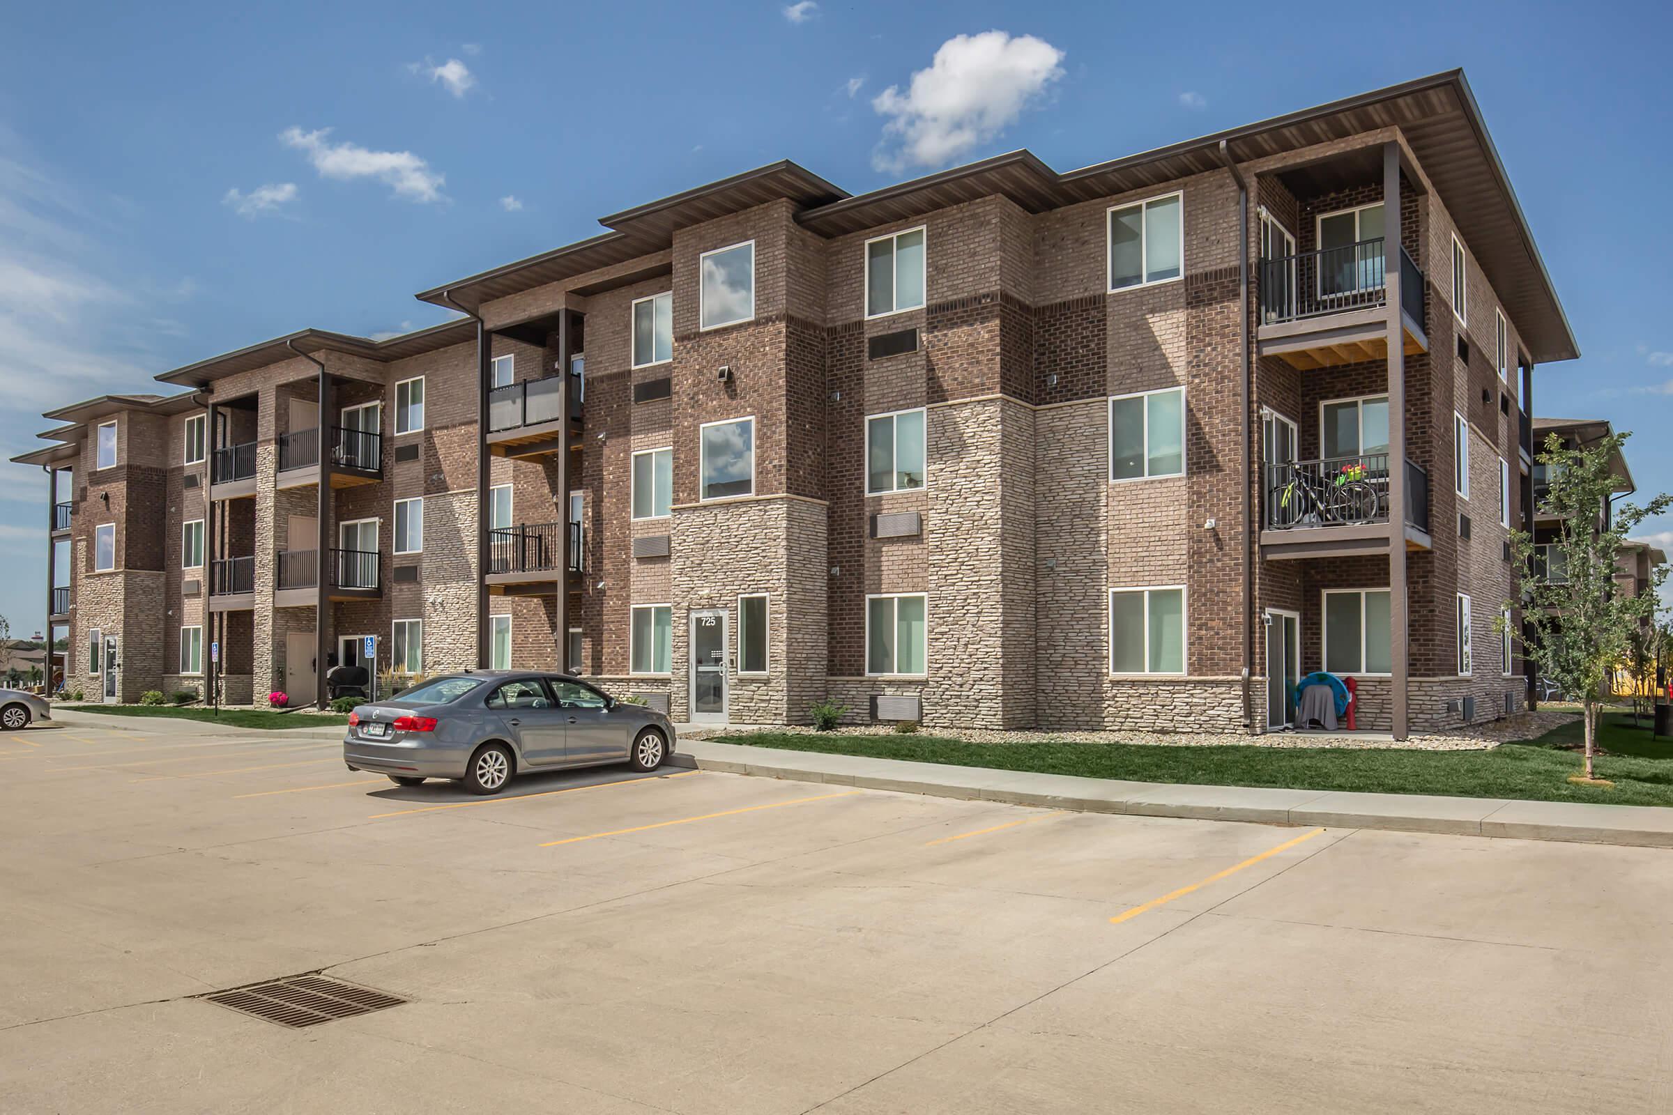
[[[1673,809],[1502,797],[1121,782],[681,739],[674,766],[1041,809],[1673,848]]]

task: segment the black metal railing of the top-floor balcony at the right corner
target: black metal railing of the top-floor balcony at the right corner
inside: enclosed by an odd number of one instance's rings
[[[1384,242],[1377,239],[1263,259],[1261,323],[1300,321],[1387,304]],[[1400,249],[1400,308],[1422,326],[1424,272]]]

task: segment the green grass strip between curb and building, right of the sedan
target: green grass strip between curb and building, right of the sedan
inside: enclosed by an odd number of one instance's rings
[[[728,744],[818,751],[877,759],[949,762],[1000,771],[1039,771],[1134,782],[1280,786],[1379,794],[1447,794],[1588,801],[1616,806],[1673,806],[1673,741],[1651,741],[1631,717],[1608,714],[1599,732],[1599,777],[1614,789],[1574,786],[1581,772],[1581,727],[1564,726],[1536,741],[1492,751],[1395,751],[1347,747],[1168,747],[1151,744],[972,744],[940,736],[803,736],[755,732]]]

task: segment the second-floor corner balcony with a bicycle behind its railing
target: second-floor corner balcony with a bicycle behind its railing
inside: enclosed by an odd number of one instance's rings
[[[1387,453],[1266,465],[1261,552],[1327,557],[1387,550],[1392,517]],[[1430,548],[1429,473],[1405,461],[1405,545]]]

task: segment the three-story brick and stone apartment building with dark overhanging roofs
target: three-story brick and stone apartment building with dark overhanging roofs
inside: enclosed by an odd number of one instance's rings
[[[1574,339],[1461,72],[1059,174],[780,162],[49,415],[70,684],[572,669],[676,720],[1268,731],[1526,700]],[[55,550],[59,553],[59,550]],[[1516,617],[1512,615],[1512,622]],[[1509,647],[1514,650],[1514,647]]]

